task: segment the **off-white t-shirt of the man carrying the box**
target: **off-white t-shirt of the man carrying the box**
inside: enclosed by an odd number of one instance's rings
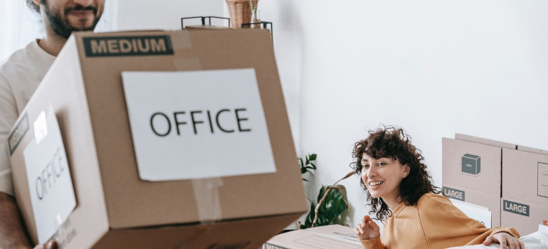
[[[0,63],[0,191],[6,194],[14,195],[9,130],[55,59],[35,40]]]

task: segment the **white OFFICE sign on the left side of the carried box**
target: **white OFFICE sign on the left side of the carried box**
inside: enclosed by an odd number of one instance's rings
[[[33,122],[35,137],[23,151],[38,242],[45,243],[76,206],[59,124],[53,109]]]

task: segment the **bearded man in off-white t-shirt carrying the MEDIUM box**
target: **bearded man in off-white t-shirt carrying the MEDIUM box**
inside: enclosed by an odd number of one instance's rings
[[[0,248],[31,248],[23,228],[9,166],[7,136],[72,31],[93,31],[105,0],[26,0],[46,31],[0,65]],[[35,248],[55,248],[55,243]]]

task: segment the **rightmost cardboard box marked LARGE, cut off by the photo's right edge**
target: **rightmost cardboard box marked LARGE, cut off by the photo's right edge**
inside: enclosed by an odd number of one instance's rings
[[[502,226],[522,234],[548,223],[548,154],[537,149],[502,149]]]

